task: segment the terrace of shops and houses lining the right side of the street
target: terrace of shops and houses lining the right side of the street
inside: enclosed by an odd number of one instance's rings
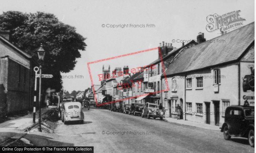
[[[200,32],[197,42],[180,48],[163,42],[159,52],[142,72],[119,76],[129,67],[111,72],[103,66],[105,79],[94,87],[98,104],[162,103],[165,117],[172,118],[179,105],[184,120],[217,126],[223,124],[227,106],[254,106],[254,22],[211,40]],[[116,77],[108,78],[112,74]]]

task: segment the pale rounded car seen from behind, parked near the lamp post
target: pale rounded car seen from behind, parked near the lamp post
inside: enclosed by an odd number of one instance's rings
[[[65,102],[61,105],[61,120],[64,124],[71,121],[83,123],[84,114],[80,102]]]

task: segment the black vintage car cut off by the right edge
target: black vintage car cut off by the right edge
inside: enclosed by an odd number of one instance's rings
[[[254,106],[227,107],[221,132],[225,140],[230,140],[231,136],[248,138],[249,144],[254,147]]]

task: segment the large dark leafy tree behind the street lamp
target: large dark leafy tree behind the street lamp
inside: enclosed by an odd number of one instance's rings
[[[37,50],[42,43],[46,51],[43,74],[53,74],[52,79],[43,79],[44,89],[59,91],[62,87],[60,72],[74,69],[79,50],[84,51],[86,43],[75,27],[62,23],[50,13],[3,12],[0,15],[0,29],[10,31],[10,41],[17,47],[38,59]]]

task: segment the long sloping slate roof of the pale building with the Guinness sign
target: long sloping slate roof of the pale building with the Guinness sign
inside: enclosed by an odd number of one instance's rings
[[[166,69],[166,75],[233,62],[243,55],[246,48],[254,42],[254,22],[207,42],[184,50]],[[217,40],[225,40],[217,43]]]

